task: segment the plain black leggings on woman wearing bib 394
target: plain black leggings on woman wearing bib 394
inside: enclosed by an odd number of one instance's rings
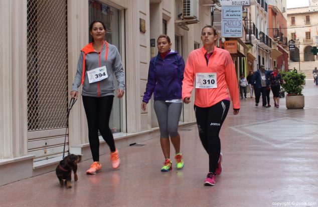
[[[108,144],[110,151],[116,150],[114,137],[109,128],[109,118],[114,96],[91,97],[82,95],[82,98],[87,118],[88,140],[93,160],[99,161],[98,130]]]

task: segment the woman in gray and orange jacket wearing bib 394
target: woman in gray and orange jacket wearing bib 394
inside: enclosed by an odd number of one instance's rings
[[[93,163],[86,173],[96,174],[102,169],[99,163],[98,131],[110,148],[112,167],[118,168],[120,164],[118,149],[115,147],[114,137],[109,128],[109,119],[115,90],[114,76],[118,82],[118,98],[124,94],[125,76],[118,49],[104,40],[105,24],[102,21],[93,21],[89,26],[89,32],[93,42],[81,49],[71,96],[77,98],[78,87],[82,84],[88,140],[93,156]]]

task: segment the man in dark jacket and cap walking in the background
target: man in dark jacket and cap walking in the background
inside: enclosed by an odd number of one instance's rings
[[[254,89],[255,89],[255,105],[258,106],[259,98],[260,95],[262,94],[262,105],[263,107],[269,107],[267,105],[267,100],[266,100],[266,92],[269,87],[269,81],[268,81],[268,75],[270,71],[265,70],[264,65],[260,65],[259,70],[257,70],[254,73],[255,77],[255,84],[254,84]],[[269,104],[269,102],[268,102]]]

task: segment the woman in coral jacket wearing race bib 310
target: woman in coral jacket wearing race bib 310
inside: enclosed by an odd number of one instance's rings
[[[215,46],[218,38],[213,26],[203,27],[203,47],[190,53],[182,88],[185,103],[191,102],[192,89],[196,88],[194,109],[199,136],[209,154],[209,173],[204,185],[215,185],[216,175],[222,171],[219,132],[230,107],[228,90],[233,101],[233,114],[238,114],[240,109],[235,66],[230,53]]]

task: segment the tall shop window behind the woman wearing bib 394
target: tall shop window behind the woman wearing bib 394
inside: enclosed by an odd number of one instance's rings
[[[89,24],[94,20],[101,20],[105,23],[106,34],[105,40],[110,44],[117,47],[121,58],[121,11],[115,7],[109,6],[98,0],[89,0]],[[88,27],[87,27],[88,28]],[[92,37],[89,37],[92,41]],[[114,78],[114,86],[117,87],[118,83]],[[122,130],[122,99],[114,96],[113,108],[110,114],[109,126],[113,133]]]

